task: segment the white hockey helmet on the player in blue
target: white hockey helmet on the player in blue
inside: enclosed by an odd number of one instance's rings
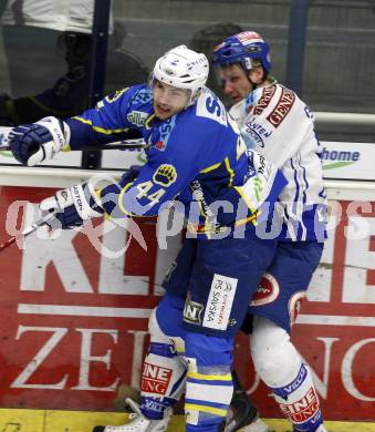
[[[153,79],[190,91],[188,104],[198,97],[208,79],[209,63],[205,54],[179,45],[160,56],[153,71]]]

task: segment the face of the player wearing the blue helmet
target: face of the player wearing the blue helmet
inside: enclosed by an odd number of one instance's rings
[[[240,102],[252,90],[251,83],[239,64],[228,64],[220,68],[221,88],[225,94],[235,103]]]

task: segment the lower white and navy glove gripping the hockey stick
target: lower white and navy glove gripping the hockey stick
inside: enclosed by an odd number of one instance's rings
[[[48,225],[53,229],[70,229],[83,225],[92,217],[100,217],[104,209],[101,199],[90,183],[83,183],[58,191],[54,196],[45,198],[39,205],[44,217],[53,213]]]

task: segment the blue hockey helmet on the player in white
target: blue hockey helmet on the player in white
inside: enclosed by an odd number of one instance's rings
[[[254,31],[243,31],[225,39],[213,49],[212,64],[240,63],[246,71],[254,68],[252,60],[259,60],[265,72],[271,69],[270,48],[264,39]]]

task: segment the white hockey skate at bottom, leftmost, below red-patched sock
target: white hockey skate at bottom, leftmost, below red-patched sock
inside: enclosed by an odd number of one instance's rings
[[[129,405],[132,414],[129,422],[122,426],[95,426],[93,432],[165,432],[167,431],[169,420],[171,418],[171,408],[167,408],[164,412],[164,419],[149,420],[140,412],[138,403],[126,398],[126,404]]]

